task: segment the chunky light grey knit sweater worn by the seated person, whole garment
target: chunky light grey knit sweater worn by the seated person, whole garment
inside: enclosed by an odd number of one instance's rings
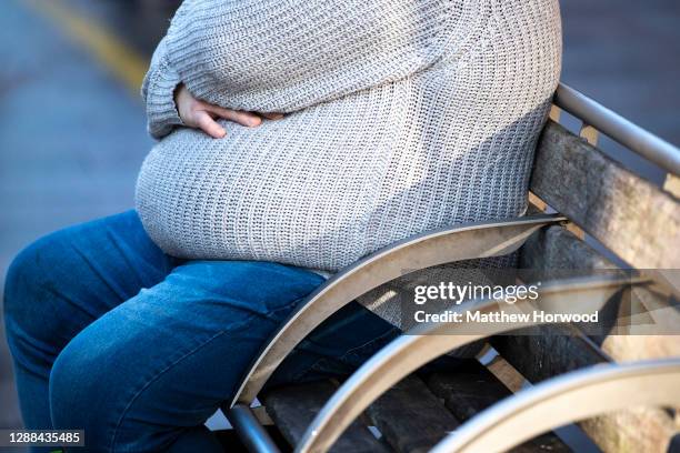
[[[137,209],[167,253],[336,271],[521,214],[560,72],[557,0],[186,0],[144,80]],[[173,90],[288,113],[183,128]]]

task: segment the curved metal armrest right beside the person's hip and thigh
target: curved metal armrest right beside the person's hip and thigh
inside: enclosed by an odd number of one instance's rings
[[[440,229],[396,242],[358,261],[329,279],[292,314],[251,366],[230,407],[237,403],[250,405],[296,345],[358,296],[406,273],[432,265],[511,253],[536,230],[566,220],[559,214],[539,214]]]

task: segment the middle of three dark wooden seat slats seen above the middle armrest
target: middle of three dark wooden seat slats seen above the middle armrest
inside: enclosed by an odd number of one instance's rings
[[[366,411],[398,452],[427,452],[459,423],[417,376],[409,376]]]

